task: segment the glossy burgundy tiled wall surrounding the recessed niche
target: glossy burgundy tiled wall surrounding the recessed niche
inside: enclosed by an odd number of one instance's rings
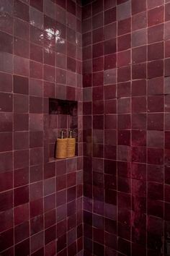
[[[0,255],[82,255],[81,3],[0,1]],[[78,101],[78,156],[50,161]]]

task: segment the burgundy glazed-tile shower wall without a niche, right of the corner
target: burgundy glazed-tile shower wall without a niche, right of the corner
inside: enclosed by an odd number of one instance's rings
[[[170,254],[170,1],[83,1],[84,255]]]

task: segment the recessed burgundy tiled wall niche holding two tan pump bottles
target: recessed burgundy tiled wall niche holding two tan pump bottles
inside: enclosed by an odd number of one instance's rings
[[[73,131],[76,137],[76,155],[78,155],[78,103],[77,101],[66,101],[49,98],[49,129],[48,149],[49,159],[55,158],[56,140],[61,137],[63,130],[64,137],[68,137],[69,131]]]

